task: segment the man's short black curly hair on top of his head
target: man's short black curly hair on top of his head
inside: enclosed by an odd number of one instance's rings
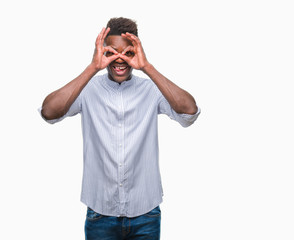
[[[108,21],[106,28],[108,27],[110,28],[110,31],[106,37],[110,35],[121,35],[126,32],[132,33],[138,37],[137,23],[129,18],[111,18]]]

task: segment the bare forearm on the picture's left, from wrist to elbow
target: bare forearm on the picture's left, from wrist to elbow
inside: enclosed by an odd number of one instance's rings
[[[90,64],[78,77],[49,94],[42,105],[42,115],[51,120],[62,117],[98,70]]]

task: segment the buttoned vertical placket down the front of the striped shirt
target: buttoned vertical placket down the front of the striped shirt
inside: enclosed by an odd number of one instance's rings
[[[119,87],[119,103],[118,103],[118,189],[119,189],[119,212],[120,216],[126,215],[126,198],[125,198],[125,179],[124,179],[124,104],[123,104],[123,88]]]

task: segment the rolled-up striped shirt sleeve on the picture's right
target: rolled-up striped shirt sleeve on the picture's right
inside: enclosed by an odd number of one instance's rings
[[[158,114],[166,114],[170,119],[177,121],[183,127],[192,125],[198,118],[200,112],[201,109],[198,107],[195,114],[177,113],[162,94],[159,97]]]

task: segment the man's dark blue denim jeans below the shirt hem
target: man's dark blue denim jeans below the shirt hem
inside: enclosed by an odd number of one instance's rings
[[[161,211],[159,206],[138,217],[112,217],[87,209],[86,240],[160,239]]]

